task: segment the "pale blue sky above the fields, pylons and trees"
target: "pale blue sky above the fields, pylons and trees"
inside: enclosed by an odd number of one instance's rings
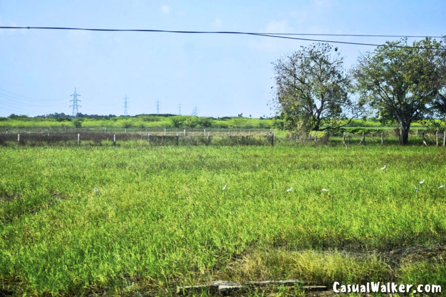
[[[438,1],[3,1],[0,26],[446,34]],[[305,38],[305,37],[304,37]],[[318,39],[313,36],[309,38]],[[383,44],[390,37],[319,37]],[[418,38],[419,39],[419,38]],[[412,41],[414,39],[410,39]],[[310,41],[248,35],[0,29],[0,116],[79,112],[272,116],[271,62]],[[336,45],[346,67],[374,47]]]

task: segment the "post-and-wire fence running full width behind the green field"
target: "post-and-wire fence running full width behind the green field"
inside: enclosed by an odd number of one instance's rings
[[[106,132],[106,131],[44,131],[22,133],[0,133],[0,145],[392,145],[400,143],[397,132],[389,133],[343,133],[341,135],[326,134],[323,137],[317,135],[297,135],[282,133],[276,137],[274,132],[266,131],[139,131],[139,132]],[[409,145],[446,145],[446,132],[441,133],[417,133],[410,135]]]

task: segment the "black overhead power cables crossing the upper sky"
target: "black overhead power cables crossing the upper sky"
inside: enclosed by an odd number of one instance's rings
[[[161,32],[161,33],[186,33],[186,34],[241,34],[241,35],[255,35],[305,41],[317,41],[323,43],[335,43],[335,44],[348,44],[348,45],[360,45],[360,46],[374,46],[374,47],[391,47],[391,48],[409,48],[409,49],[435,49],[446,50],[446,48],[424,48],[424,47],[411,47],[411,46],[396,46],[396,45],[377,45],[367,43],[353,43],[348,41],[337,40],[321,40],[321,39],[309,39],[289,37],[283,35],[311,35],[311,36],[361,36],[361,37],[432,37],[442,38],[443,36],[404,36],[404,35],[354,35],[354,34],[310,34],[310,33],[252,33],[252,32],[236,32],[236,31],[172,31],[172,30],[152,30],[152,29],[91,29],[91,28],[70,28],[70,27],[4,27],[0,29],[44,29],[44,30],[83,30],[83,31],[107,31],[107,32]]]

